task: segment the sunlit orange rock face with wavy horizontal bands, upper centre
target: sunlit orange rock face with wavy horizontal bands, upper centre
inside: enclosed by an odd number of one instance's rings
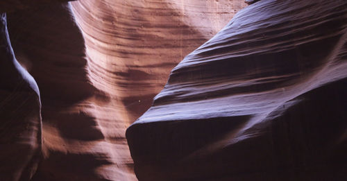
[[[126,123],[149,108],[185,55],[244,6],[243,1],[71,3],[85,38],[90,82],[110,97],[110,104],[117,105],[115,117]],[[105,126],[112,134],[110,129]]]

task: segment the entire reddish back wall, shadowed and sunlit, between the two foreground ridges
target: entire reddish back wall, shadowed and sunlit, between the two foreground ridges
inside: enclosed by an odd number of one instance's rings
[[[15,55],[42,100],[42,159],[32,180],[137,180],[126,128],[171,69],[244,6],[83,0],[9,13]]]

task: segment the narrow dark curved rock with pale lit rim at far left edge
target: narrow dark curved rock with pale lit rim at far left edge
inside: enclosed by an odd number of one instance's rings
[[[0,14],[0,64],[0,178],[30,180],[41,155],[40,92],[15,58],[5,13]]]

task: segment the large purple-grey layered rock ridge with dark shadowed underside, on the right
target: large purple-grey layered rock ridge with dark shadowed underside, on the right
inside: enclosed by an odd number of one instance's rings
[[[126,131],[139,180],[346,180],[347,1],[257,1]]]

